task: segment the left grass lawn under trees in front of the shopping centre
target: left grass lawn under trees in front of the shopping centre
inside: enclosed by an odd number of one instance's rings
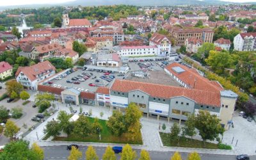
[[[94,122],[94,118],[88,117],[90,122]],[[136,144],[136,145],[142,145],[142,139],[140,136],[140,140],[137,141],[129,141],[125,137],[125,134],[122,134],[122,136],[114,136],[111,134],[107,127],[107,121],[106,120],[100,120],[100,125],[102,125],[102,132],[100,133],[101,140],[99,140],[99,136],[97,134],[91,134],[89,136],[86,136],[85,138],[77,137],[75,134],[70,134],[68,137],[56,137],[53,139],[53,141],[87,141],[87,142],[100,142],[100,143],[129,143],[129,144]]]

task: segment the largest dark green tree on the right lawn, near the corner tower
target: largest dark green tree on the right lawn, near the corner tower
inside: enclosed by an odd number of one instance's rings
[[[204,145],[206,140],[218,140],[219,134],[224,132],[220,125],[220,119],[216,115],[211,115],[209,111],[199,111],[195,117],[195,127],[198,129]]]

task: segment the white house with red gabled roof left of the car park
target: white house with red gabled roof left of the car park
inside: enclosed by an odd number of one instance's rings
[[[54,75],[56,68],[49,61],[42,61],[29,67],[19,67],[15,76],[17,82],[28,90],[37,90],[37,84]]]

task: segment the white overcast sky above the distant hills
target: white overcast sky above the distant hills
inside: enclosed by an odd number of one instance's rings
[[[26,4],[56,4],[56,3],[65,3],[68,1],[75,1],[75,0],[0,0],[0,6],[26,5]],[[158,0],[158,1],[161,1],[161,0]],[[256,0],[220,0],[220,1],[256,2]]]

